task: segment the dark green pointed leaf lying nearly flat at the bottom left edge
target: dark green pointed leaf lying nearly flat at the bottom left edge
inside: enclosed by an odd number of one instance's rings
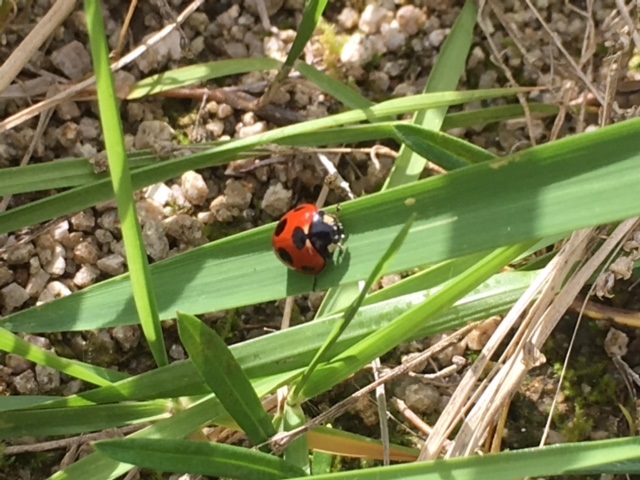
[[[95,447],[123,463],[161,472],[240,480],[278,480],[305,474],[273,455],[222,443],[130,438],[98,442]]]

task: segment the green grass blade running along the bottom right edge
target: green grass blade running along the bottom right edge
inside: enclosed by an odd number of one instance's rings
[[[628,462],[624,473],[640,472],[639,438],[566,443],[483,456],[375,467],[319,475],[314,480],[516,480],[583,471],[606,473],[615,471],[618,465],[625,465],[622,462]]]

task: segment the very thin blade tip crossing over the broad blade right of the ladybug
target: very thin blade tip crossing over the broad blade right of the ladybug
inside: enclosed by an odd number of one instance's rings
[[[291,405],[297,405],[300,403],[300,394],[304,391],[304,388],[307,385],[307,381],[309,380],[311,375],[313,375],[320,362],[324,360],[326,353],[331,349],[331,347],[335,345],[335,343],[338,341],[338,338],[340,338],[340,335],[342,335],[345,329],[349,326],[349,323],[351,323],[351,320],[353,320],[353,317],[358,312],[358,309],[362,305],[364,298],[366,297],[367,293],[369,293],[369,290],[371,290],[373,284],[380,278],[382,273],[394,259],[396,253],[402,245],[402,242],[404,242],[404,239],[407,238],[414,220],[415,213],[412,214],[411,217],[409,217],[409,220],[407,220],[407,222],[400,229],[391,244],[389,244],[389,248],[387,248],[382,257],[380,257],[380,260],[369,274],[369,277],[367,278],[367,281],[365,282],[363,288],[360,290],[360,293],[351,303],[351,305],[349,305],[345,310],[342,321],[337,323],[335,327],[333,327],[333,330],[331,330],[331,333],[327,337],[327,340],[322,345],[322,347],[320,347],[320,350],[318,350],[318,353],[316,353],[315,357],[313,357],[313,360],[311,360],[311,363],[302,374],[302,377],[296,383],[293,391],[288,397],[287,403]]]

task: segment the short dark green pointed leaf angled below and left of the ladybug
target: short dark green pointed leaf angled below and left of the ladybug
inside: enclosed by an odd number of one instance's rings
[[[178,333],[191,361],[254,445],[276,434],[251,382],[224,340],[193,315],[178,312]]]

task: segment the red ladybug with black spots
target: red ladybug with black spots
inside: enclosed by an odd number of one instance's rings
[[[282,217],[272,241],[273,251],[287,267],[317,275],[333,252],[342,249],[344,229],[335,215],[304,203]]]

